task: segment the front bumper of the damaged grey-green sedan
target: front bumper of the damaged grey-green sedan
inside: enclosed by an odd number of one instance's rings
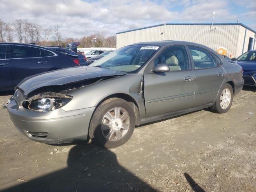
[[[36,112],[18,107],[14,100],[7,106],[14,126],[31,140],[59,144],[86,140],[94,107],[64,111]]]

